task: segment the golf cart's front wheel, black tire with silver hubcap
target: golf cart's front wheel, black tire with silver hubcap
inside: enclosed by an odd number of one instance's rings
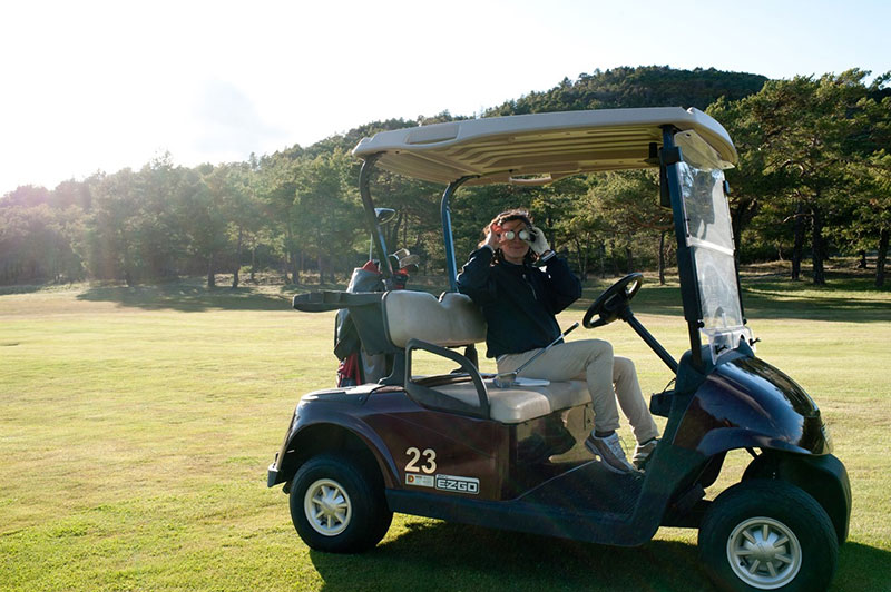
[[[752,480],[718,495],[705,513],[699,558],[722,590],[825,590],[839,540],[825,510],[804,491]]]

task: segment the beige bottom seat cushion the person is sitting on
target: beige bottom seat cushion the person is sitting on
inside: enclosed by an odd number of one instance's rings
[[[584,381],[551,382],[548,386],[512,388],[498,388],[492,381],[483,383],[489,393],[489,411],[492,420],[505,424],[527,422],[591,401],[588,383]],[[434,388],[469,405],[479,405],[473,383],[447,384]]]

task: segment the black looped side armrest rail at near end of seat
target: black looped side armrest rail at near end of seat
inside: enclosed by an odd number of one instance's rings
[[[461,366],[462,374],[467,374],[468,376],[470,376],[470,379],[473,382],[473,386],[477,389],[477,396],[479,397],[479,405],[471,405],[469,403],[464,403],[463,401],[459,401],[449,395],[444,395],[435,391],[434,388],[430,388],[428,386],[415,383],[412,379],[411,375],[412,353],[415,349],[430,352],[431,354],[442,356],[459,364]],[[486,385],[482,383],[482,376],[480,376],[480,372],[477,369],[477,366],[474,366],[470,359],[462,356],[458,352],[453,352],[446,347],[441,347],[439,345],[429,342],[423,342],[421,339],[409,339],[409,342],[405,344],[404,385],[408,395],[415,403],[418,403],[419,405],[423,405],[424,407],[459,413],[461,415],[470,415],[471,417],[480,417],[482,420],[490,418],[489,394],[486,391]]]

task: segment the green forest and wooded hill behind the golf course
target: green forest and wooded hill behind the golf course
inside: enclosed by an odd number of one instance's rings
[[[616,68],[565,78],[480,117],[618,107],[696,107],[730,131],[740,152],[726,171],[741,263],[791,262],[791,278],[826,283],[836,256],[874,260],[884,286],[891,234],[891,72],[790,80],[668,67]],[[0,197],[0,285],[76,280],[127,285],[204,276],[233,287],[342,282],[368,258],[350,150],[376,131],[454,119],[446,111],[374,121],[309,147],[247,161],[177,166],[169,155],[139,170],[97,172],[53,189]],[[395,208],[388,244],[444,267],[442,187],[379,172],[379,206]],[[673,266],[670,211],[654,171],[593,175],[538,188],[461,189],[453,201],[459,259],[506,207],[529,207],[576,272],[617,275]],[[666,236],[668,239],[666,239]],[[804,265],[804,268],[802,267]]]

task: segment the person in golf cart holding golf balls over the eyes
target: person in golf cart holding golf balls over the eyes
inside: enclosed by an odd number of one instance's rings
[[[545,233],[532,226],[527,210],[502,211],[483,233],[486,239],[458,276],[458,289],[482,308],[489,327],[487,356],[496,358],[499,373],[512,372],[560,335],[556,315],[581,296],[581,283],[566,260],[550,249]],[[609,342],[559,343],[521,374],[549,381],[587,381],[595,420],[585,445],[613,472],[644,467],[656,448],[658,428],[640,392],[634,363],[614,356]],[[634,465],[628,463],[616,434],[616,398],[637,441]]]

